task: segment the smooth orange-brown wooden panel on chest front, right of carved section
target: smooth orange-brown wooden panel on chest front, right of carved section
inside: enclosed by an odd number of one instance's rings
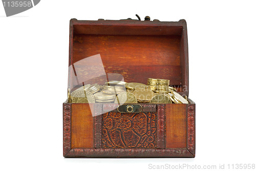
[[[186,148],[187,104],[166,104],[166,148]]]

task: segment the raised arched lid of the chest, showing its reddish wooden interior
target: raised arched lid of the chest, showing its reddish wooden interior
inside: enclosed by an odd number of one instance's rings
[[[74,90],[110,80],[170,80],[188,96],[188,45],[184,19],[70,20],[69,82]]]

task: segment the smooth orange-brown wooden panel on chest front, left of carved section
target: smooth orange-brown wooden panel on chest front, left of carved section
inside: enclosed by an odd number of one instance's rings
[[[71,148],[93,148],[93,117],[89,104],[71,105]]]

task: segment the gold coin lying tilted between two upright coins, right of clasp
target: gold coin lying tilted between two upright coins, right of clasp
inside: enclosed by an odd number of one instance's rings
[[[155,93],[149,89],[137,89],[133,91],[133,94],[140,102],[148,102],[155,96]]]

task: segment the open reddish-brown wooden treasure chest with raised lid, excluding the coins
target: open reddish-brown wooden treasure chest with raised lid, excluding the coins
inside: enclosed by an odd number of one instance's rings
[[[63,156],[195,157],[195,103],[187,98],[188,44],[184,19],[179,22],[148,18],[144,21],[71,19],[69,43]],[[176,90],[188,102],[154,103],[137,99],[136,103],[120,103],[100,97],[93,101],[95,93],[113,86],[106,82],[148,85],[148,78],[169,80],[168,90]],[[86,86],[91,89],[90,94],[72,96],[81,88],[87,92]],[[115,93],[109,96],[114,99],[119,89],[111,90]]]

